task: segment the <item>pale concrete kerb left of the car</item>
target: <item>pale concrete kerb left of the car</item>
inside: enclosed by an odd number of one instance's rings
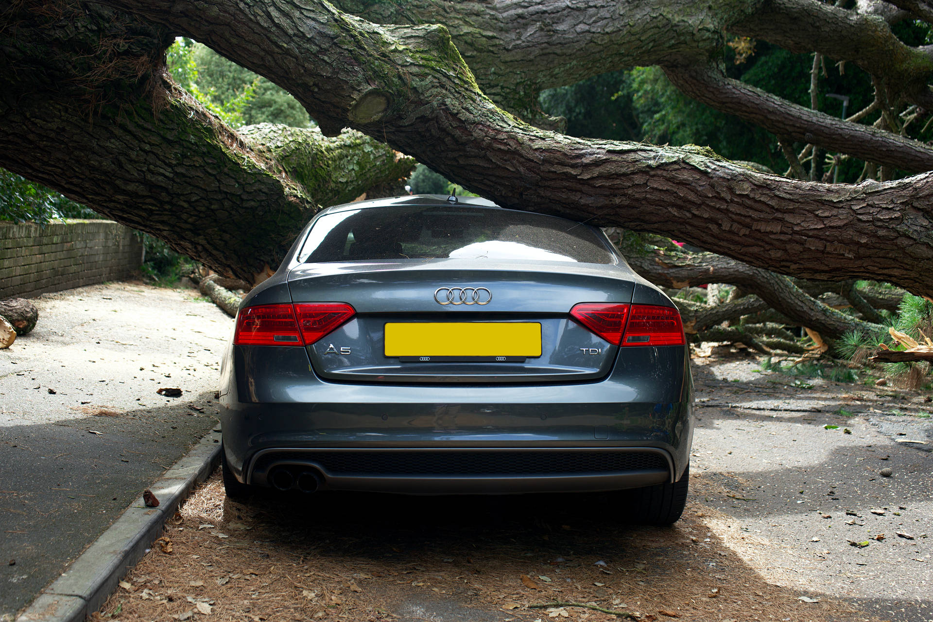
[[[146,507],[143,497],[128,507],[113,525],[58,579],[43,590],[16,622],[83,622],[117,588],[119,580],[146,554],[162,534],[194,486],[210,477],[220,461],[220,434],[205,435],[149,489],[159,507]]]

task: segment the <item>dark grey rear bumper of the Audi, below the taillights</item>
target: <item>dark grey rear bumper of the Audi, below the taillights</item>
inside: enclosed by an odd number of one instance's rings
[[[595,382],[496,386],[327,382],[304,349],[236,348],[221,420],[230,472],[244,483],[269,485],[288,468],[311,469],[332,490],[605,491],[674,481],[689,462],[683,348],[629,349]],[[365,464],[335,465],[338,455]],[[561,466],[581,456],[591,458]]]

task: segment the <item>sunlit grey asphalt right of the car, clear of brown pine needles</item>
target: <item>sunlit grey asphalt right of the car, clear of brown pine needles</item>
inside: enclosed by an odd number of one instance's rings
[[[778,585],[882,619],[933,620],[926,394],[758,368],[750,357],[693,362],[692,463],[728,491],[693,499],[726,517],[713,521],[717,535]]]

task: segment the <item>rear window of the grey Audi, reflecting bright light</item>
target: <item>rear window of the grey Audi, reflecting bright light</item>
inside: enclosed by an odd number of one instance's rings
[[[611,264],[591,228],[562,218],[464,206],[348,210],[317,219],[298,259],[532,259]]]

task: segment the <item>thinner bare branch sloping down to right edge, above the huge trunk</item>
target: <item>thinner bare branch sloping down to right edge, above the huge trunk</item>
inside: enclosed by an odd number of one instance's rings
[[[723,76],[715,67],[664,65],[663,69],[674,86],[689,97],[744,118],[778,136],[906,171],[933,170],[933,149],[910,138],[791,104],[745,82]]]

